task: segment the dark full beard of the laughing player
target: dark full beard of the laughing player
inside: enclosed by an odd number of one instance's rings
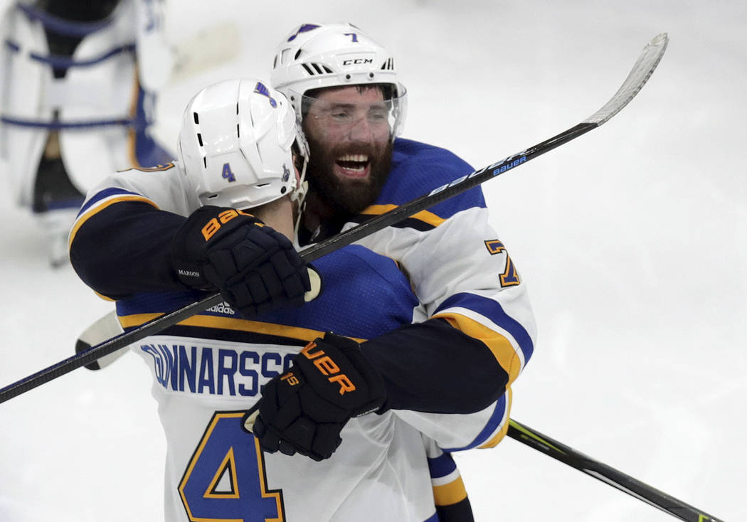
[[[381,146],[371,143],[344,143],[325,148],[307,137],[309,165],[306,178],[314,192],[332,207],[335,214],[359,214],[379,196],[391,170],[391,141]],[[334,167],[337,158],[346,154],[368,155],[370,171],[365,179],[338,178]]]

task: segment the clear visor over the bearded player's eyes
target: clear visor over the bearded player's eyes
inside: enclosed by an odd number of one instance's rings
[[[402,131],[407,108],[406,90],[401,86],[399,89],[400,96],[373,101],[369,99],[377,96],[365,94],[362,96],[350,96],[350,93],[348,96],[334,96],[333,94],[325,99],[302,96],[301,110],[304,128],[306,131],[313,128],[315,135],[351,134],[361,137],[371,136],[375,140],[385,138],[394,140]]]

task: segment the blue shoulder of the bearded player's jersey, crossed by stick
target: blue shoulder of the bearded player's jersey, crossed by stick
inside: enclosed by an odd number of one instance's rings
[[[474,171],[447,149],[404,138],[394,140],[391,164],[391,173],[376,199],[378,205],[403,205]],[[445,219],[471,207],[485,207],[480,187],[466,190],[428,210]]]

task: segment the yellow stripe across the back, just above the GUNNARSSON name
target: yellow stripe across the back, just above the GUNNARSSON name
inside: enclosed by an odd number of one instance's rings
[[[123,328],[140,326],[143,323],[161,317],[164,314],[132,314],[121,316],[120,323]],[[214,315],[193,315],[177,323],[180,326],[200,326],[202,328],[214,328],[222,330],[241,330],[242,332],[255,332],[258,334],[276,335],[300,341],[314,341],[317,337],[324,337],[324,332],[300,328],[298,326],[285,326],[275,323],[261,323],[248,319],[235,319],[234,317],[217,317]],[[365,339],[351,337],[353,341],[362,343]]]

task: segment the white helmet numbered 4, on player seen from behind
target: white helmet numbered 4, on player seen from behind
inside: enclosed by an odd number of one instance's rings
[[[220,81],[187,104],[179,162],[202,205],[252,208],[300,197],[294,142],[296,116],[282,93],[252,78]]]

